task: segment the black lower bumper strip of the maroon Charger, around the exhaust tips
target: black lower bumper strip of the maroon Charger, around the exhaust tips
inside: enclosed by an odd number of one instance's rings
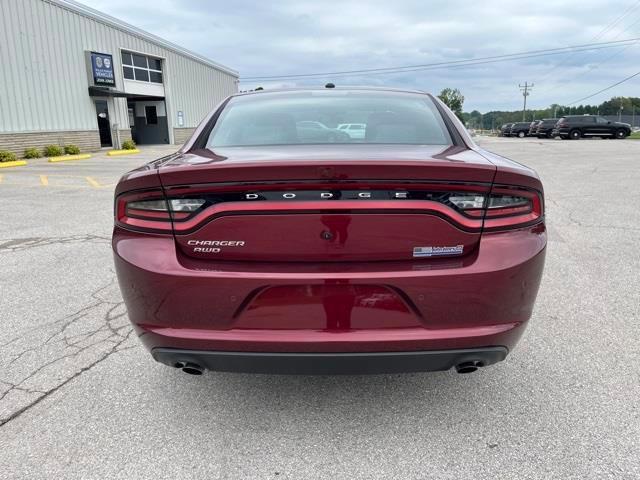
[[[460,365],[486,367],[504,360],[505,347],[418,352],[264,353],[154,348],[153,358],[170,367],[193,364],[207,370],[296,375],[442,371]]]

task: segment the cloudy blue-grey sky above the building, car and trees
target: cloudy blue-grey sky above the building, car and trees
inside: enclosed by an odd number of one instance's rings
[[[331,72],[461,60],[640,37],[640,0],[82,0],[240,72],[241,77]],[[465,110],[567,104],[640,70],[640,42],[586,53],[402,74],[261,85],[459,88]],[[640,96],[640,76],[585,103]]]

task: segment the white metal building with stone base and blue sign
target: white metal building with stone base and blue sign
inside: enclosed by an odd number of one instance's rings
[[[0,0],[0,150],[182,143],[238,73],[72,0]]]

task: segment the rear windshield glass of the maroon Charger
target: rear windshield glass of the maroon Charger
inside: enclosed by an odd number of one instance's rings
[[[452,140],[427,95],[313,91],[232,98],[207,147],[351,143],[451,145]]]

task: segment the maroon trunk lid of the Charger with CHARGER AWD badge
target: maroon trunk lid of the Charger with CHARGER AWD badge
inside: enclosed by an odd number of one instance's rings
[[[460,147],[305,145],[198,151],[159,172],[184,255],[364,262],[473,251],[482,214],[458,207],[495,170]]]

